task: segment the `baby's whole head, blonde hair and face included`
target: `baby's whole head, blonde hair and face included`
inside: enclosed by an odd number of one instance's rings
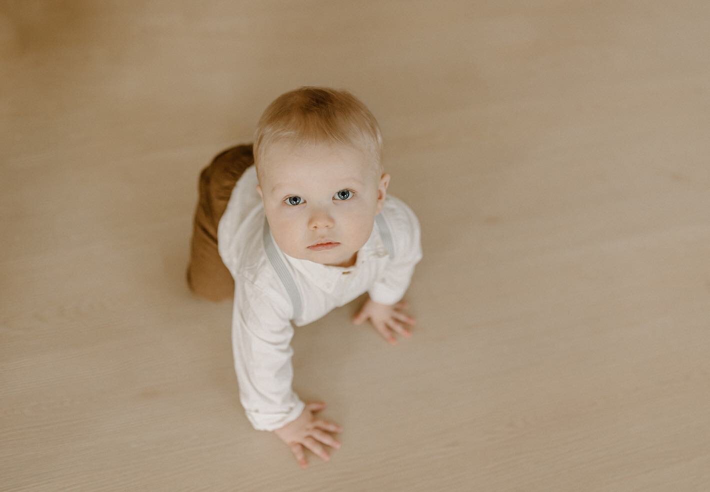
[[[305,86],[259,120],[254,162],[271,233],[290,257],[350,267],[370,237],[389,174],[372,113],[348,91]],[[314,248],[318,242],[336,243]]]

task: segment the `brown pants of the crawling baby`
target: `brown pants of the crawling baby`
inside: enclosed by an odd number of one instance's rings
[[[254,163],[252,145],[243,144],[220,152],[200,173],[187,286],[209,301],[234,297],[234,279],[217,250],[217,225],[236,181]]]

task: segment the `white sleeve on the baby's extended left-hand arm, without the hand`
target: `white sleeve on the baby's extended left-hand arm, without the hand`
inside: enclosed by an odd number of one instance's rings
[[[275,430],[305,408],[292,389],[290,306],[244,276],[234,286],[232,349],[239,400],[256,430]]]

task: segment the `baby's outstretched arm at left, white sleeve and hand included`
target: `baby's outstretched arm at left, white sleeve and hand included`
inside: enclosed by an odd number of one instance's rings
[[[234,367],[239,399],[247,418],[257,430],[271,430],[285,442],[302,467],[307,466],[304,447],[329,459],[322,443],[340,447],[327,431],[340,427],[317,419],[314,413],[325,403],[303,403],[292,389],[290,346],[293,326],[288,300],[267,295],[243,277],[235,282],[232,315]]]

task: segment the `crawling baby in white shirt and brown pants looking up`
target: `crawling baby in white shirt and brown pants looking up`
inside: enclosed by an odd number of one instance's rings
[[[239,399],[257,430],[275,432],[300,466],[324,460],[342,428],[292,388],[293,325],[312,323],[368,293],[369,320],[391,344],[415,320],[402,301],[422,259],[413,211],[387,195],[376,119],[347,91],[304,86],[264,111],[253,147],[217,155],[200,177],[190,289],[233,296]],[[252,165],[253,164],[253,165]],[[292,325],[293,321],[293,325]]]

